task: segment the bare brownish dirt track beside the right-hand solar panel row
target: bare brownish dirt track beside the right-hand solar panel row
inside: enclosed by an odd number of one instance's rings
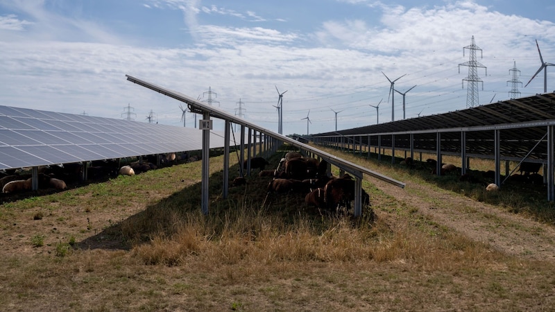
[[[474,241],[527,259],[555,259],[555,229],[552,226],[429,185],[407,182],[401,189],[373,177],[368,180],[411,209],[418,209],[435,222]]]

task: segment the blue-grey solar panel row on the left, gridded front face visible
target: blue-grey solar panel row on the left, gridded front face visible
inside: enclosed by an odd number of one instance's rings
[[[202,130],[194,128],[0,106],[0,169],[200,150],[202,146]],[[210,148],[223,146],[223,134],[210,132]]]

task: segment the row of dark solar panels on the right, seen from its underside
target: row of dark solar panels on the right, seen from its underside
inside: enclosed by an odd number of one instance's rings
[[[493,128],[502,125],[500,150],[505,158],[522,159],[527,153],[533,159],[547,159],[547,125],[555,121],[555,93],[536,94],[525,98],[499,101],[488,105],[422,116],[401,121],[368,125],[314,135],[314,137],[359,136],[363,144],[377,146],[377,135],[384,135],[380,144],[410,148],[410,134],[416,150],[436,150],[436,132],[441,133],[441,148],[461,153],[461,131],[466,131],[467,153],[490,156],[495,153]],[[457,130],[457,131],[454,131]],[[470,130],[470,131],[468,131]],[[542,144],[536,144],[544,141]]]

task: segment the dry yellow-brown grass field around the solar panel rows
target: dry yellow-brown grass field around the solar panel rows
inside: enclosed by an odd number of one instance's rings
[[[436,207],[447,209],[450,196],[465,196],[553,226],[553,207],[545,197],[491,196],[450,177],[332,152],[398,180],[441,186],[445,198]],[[270,159],[272,166],[280,157]],[[223,199],[221,164],[222,157],[211,159],[208,216],[200,213],[200,162],[4,202],[0,310],[552,311],[555,306],[553,257],[530,259],[491,248],[368,180],[363,186],[372,207],[359,219],[321,213],[307,207],[304,196],[268,195],[268,178],[256,175]],[[236,161],[230,175],[237,176]]]

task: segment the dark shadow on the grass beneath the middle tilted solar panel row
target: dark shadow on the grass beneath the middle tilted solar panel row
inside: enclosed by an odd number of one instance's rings
[[[289,150],[278,151],[270,157],[270,168],[276,168],[287,151]],[[198,165],[200,166],[200,162]],[[267,187],[272,177],[259,177],[258,170],[246,176],[246,185],[232,187],[231,181],[237,177],[238,169],[237,164],[230,167],[230,187],[228,198],[225,199],[222,197],[223,171],[210,175],[210,204],[206,216],[200,209],[202,190],[201,183],[198,182],[163,198],[154,205],[147,206],[143,211],[117,224],[106,227],[102,232],[76,243],[75,246],[80,249],[131,250],[156,237],[171,238],[180,229],[191,224],[210,227],[212,235],[218,236],[230,222],[233,222],[230,218],[248,218],[253,214],[263,214],[263,217],[277,219],[284,227],[293,226],[302,218],[309,220],[316,232],[324,232],[329,225],[328,220],[337,217],[309,207],[305,203],[305,194],[268,193]],[[373,216],[373,211],[367,210],[370,211],[369,215]],[[368,218],[352,219],[354,226],[368,222]]]

